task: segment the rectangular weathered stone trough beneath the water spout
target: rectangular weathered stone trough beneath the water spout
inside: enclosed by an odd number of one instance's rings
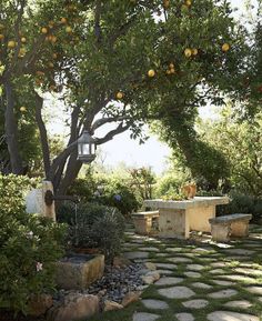
[[[66,290],[84,290],[103,275],[104,255],[70,254],[57,263],[57,284]]]

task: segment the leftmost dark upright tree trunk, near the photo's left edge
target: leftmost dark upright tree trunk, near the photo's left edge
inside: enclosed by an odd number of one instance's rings
[[[6,112],[4,112],[4,130],[7,134],[7,144],[8,144],[8,152],[11,162],[12,173],[14,174],[22,174],[23,167],[22,167],[22,159],[19,153],[19,143],[18,143],[18,123],[14,117],[14,98],[12,91],[12,84],[7,81],[4,83],[6,90]]]

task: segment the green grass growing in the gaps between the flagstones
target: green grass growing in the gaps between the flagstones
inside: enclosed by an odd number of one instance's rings
[[[127,242],[130,242],[130,235],[127,238]],[[258,247],[259,247],[259,242]],[[175,321],[177,318],[174,317],[175,313],[181,313],[181,312],[187,312],[187,313],[192,313],[195,318],[195,321],[203,321],[206,320],[206,315],[213,311],[216,310],[223,310],[223,311],[232,311],[232,312],[239,312],[239,313],[249,313],[253,315],[262,315],[262,302],[259,301],[259,299],[255,294],[251,294],[248,290],[246,287],[249,285],[262,285],[262,278],[261,277],[255,277],[252,273],[239,273],[233,271],[234,268],[241,267],[241,264],[244,264],[245,261],[250,261],[250,258],[243,257],[241,261],[238,260],[230,260],[230,257],[233,257],[233,254],[224,252],[224,249],[221,249],[216,247],[216,244],[202,244],[202,243],[194,243],[194,244],[189,244],[188,242],[183,241],[174,241],[174,240],[162,240],[162,243],[155,243],[152,241],[144,241],[143,243],[132,243],[132,248],[128,248],[127,251],[140,251],[140,248],[144,247],[154,247],[160,249],[161,253],[167,253],[168,257],[161,258],[158,257],[158,253],[155,252],[149,252],[149,259],[147,261],[151,262],[158,262],[158,263],[174,263],[178,265],[178,269],[168,269],[172,271],[172,274],[167,275],[167,277],[180,277],[184,278],[184,280],[175,285],[170,285],[170,287],[188,287],[192,289],[195,292],[195,295],[193,295],[190,299],[167,299],[162,297],[159,292],[158,289],[167,289],[169,287],[163,287],[163,285],[150,285],[142,294],[142,299],[157,299],[157,300],[162,300],[169,304],[169,309],[167,310],[155,310],[155,309],[147,309],[142,302],[135,302],[129,305],[128,308],[120,310],[120,311],[112,311],[112,312],[105,312],[100,315],[95,315],[91,319],[90,321],[131,321],[133,313],[137,312],[149,312],[149,313],[154,313],[161,315],[158,321]],[[172,252],[172,251],[165,251],[167,248],[182,248],[181,251],[179,252]],[[191,257],[190,259],[192,260],[191,263],[175,263],[175,262],[170,262],[168,261],[169,258],[174,258],[174,257],[184,257],[187,258],[187,254],[192,253],[192,250],[195,248],[212,248],[212,250],[208,252],[196,252],[195,255]],[[234,249],[245,249],[243,242],[235,242],[233,244]],[[250,248],[249,248],[250,249]],[[262,254],[254,252],[252,254],[252,261],[254,262],[254,269],[262,270],[261,265],[258,265],[260,263],[260,259],[262,258]],[[210,265],[210,263],[215,262],[215,261],[224,261],[228,262],[226,267],[222,267],[221,269],[224,270],[224,274],[242,274],[244,277],[250,277],[255,280],[255,284],[249,284],[249,282],[245,281],[234,281],[235,284],[224,287],[224,285],[218,285],[215,284],[212,280],[224,280],[224,281],[231,281],[228,279],[223,278],[216,278],[219,274],[212,274],[210,271],[216,269]],[[187,264],[202,264],[204,265],[204,270],[200,271],[201,278],[187,278],[183,272],[189,271],[187,269]],[[162,268],[161,268],[162,269]],[[165,269],[165,268],[164,268]],[[220,268],[219,268],[220,269]],[[246,269],[252,269],[251,267]],[[196,271],[198,272],[198,271]],[[193,288],[191,284],[193,282],[202,282],[209,285],[212,285],[212,289],[198,289]],[[234,289],[238,291],[238,293],[231,298],[224,298],[224,299],[212,299],[209,298],[209,293],[213,293],[216,291],[221,291],[224,289]],[[203,309],[189,309],[184,308],[182,305],[183,301],[188,300],[194,300],[194,299],[204,299],[209,301],[209,304],[203,308]],[[252,307],[249,309],[241,309],[241,308],[228,308],[224,307],[224,303],[229,301],[235,301],[235,300],[246,300],[252,303]],[[262,320],[262,319],[261,319]]]

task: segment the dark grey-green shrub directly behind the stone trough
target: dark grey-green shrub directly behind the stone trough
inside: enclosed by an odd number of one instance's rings
[[[58,221],[70,224],[73,247],[99,248],[111,262],[119,253],[123,239],[124,219],[115,208],[98,203],[63,203],[58,210]]]

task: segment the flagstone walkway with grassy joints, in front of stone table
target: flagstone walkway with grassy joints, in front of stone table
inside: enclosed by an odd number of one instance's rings
[[[262,320],[262,227],[231,243],[160,240],[129,230],[124,251],[137,262],[152,262],[160,279],[147,285],[141,301],[100,320]]]

